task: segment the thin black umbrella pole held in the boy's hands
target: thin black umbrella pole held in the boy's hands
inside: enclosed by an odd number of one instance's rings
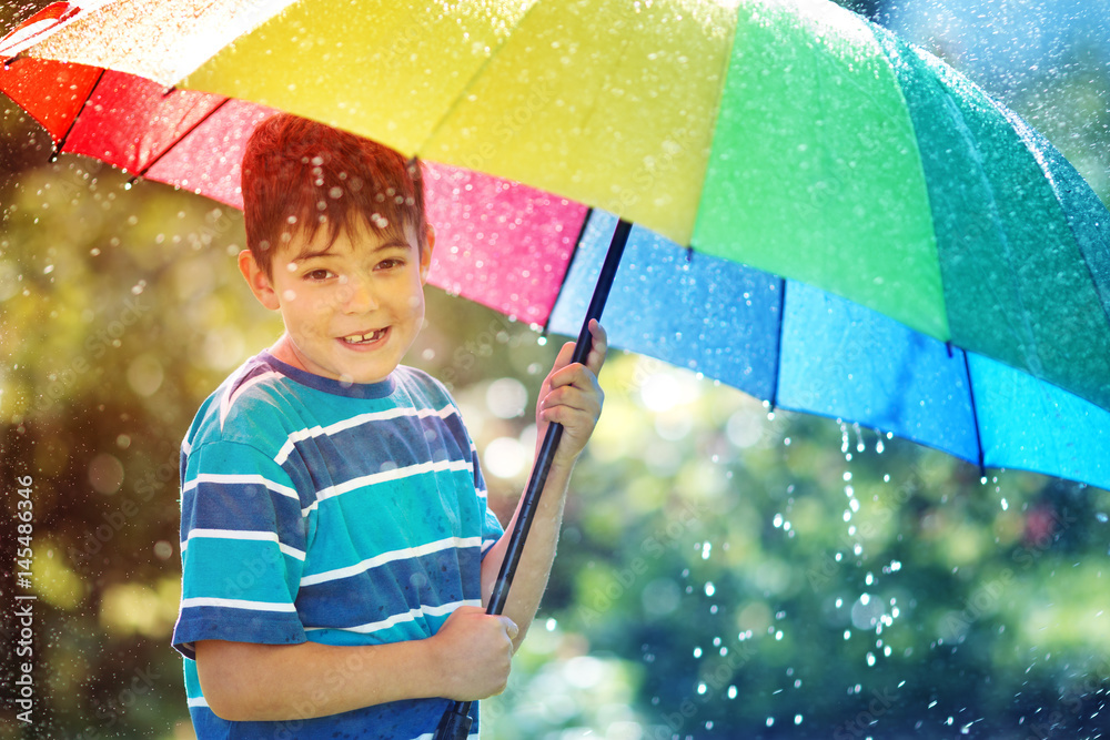
[[[594,296],[586,310],[586,318],[582,322],[582,331],[578,332],[578,342],[574,347],[572,364],[585,363],[589,355],[589,349],[593,346],[589,321],[592,318],[601,321],[602,318],[602,311],[605,310],[605,301],[609,296],[609,287],[613,286],[613,277],[620,264],[620,255],[624,253],[629,231],[632,231],[632,224],[622,219],[617,223],[616,231],[613,232],[613,240],[609,242],[605,262],[602,264],[602,272],[597,276],[597,284],[594,287]],[[516,566],[521,561],[528,529],[532,527],[532,519],[535,518],[536,506],[539,504],[539,495],[543,493],[544,484],[547,483],[547,473],[551,470],[555,449],[558,448],[562,438],[562,424],[552,424],[547,427],[547,434],[544,435],[543,445],[541,445],[539,454],[536,456],[536,465],[532,468],[528,487],[525,488],[524,497],[521,499],[521,511],[516,517],[516,526],[513,527],[508,548],[505,550],[505,559],[501,564],[501,572],[497,574],[497,580],[494,582],[486,614],[500,615],[505,608],[508,589],[513,585]],[[465,740],[471,730],[471,703],[470,701],[455,701],[444,711],[443,719],[440,720],[440,726],[435,731],[436,740]]]

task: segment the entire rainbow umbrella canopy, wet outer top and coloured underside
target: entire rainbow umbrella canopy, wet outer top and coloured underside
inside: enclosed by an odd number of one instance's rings
[[[272,109],[420,155],[462,261],[440,284],[559,333],[609,214],[633,221],[614,344],[1110,486],[1106,206],[1016,114],[828,0],[59,3],[0,54],[60,151],[232,204]]]

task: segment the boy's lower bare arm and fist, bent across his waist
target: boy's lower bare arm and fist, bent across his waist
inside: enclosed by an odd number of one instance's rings
[[[200,640],[196,671],[209,709],[231,721],[311,719],[371,704],[505,689],[517,628],[460,607],[435,636],[387,645],[259,645]]]

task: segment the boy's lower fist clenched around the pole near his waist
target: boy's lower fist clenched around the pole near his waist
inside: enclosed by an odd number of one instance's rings
[[[458,607],[430,642],[445,680],[445,699],[477,701],[508,685],[516,624],[481,607]]]

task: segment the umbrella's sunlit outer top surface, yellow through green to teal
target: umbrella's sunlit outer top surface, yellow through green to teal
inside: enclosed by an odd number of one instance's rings
[[[33,53],[525,182],[1110,406],[1106,209],[1016,115],[828,0],[117,0],[63,24]]]

